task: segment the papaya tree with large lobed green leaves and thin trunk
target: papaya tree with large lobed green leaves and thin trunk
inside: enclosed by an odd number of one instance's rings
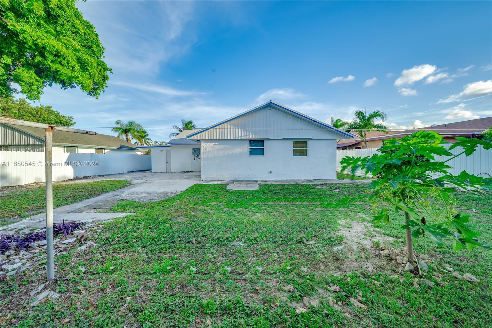
[[[405,223],[406,251],[413,261],[412,238],[429,236],[439,246],[444,238],[453,240],[455,250],[467,247],[491,247],[478,240],[480,233],[469,225],[469,215],[456,210],[453,197],[457,191],[492,196],[492,178],[477,177],[462,171],[453,175],[448,162],[459,156],[470,156],[477,147],[492,149],[492,139],[456,138],[448,142],[434,131],[418,131],[401,139],[383,141],[378,153],[368,157],[345,157],[340,161],[341,171],[358,170],[372,173],[369,184],[375,222],[390,224],[390,213],[402,212]],[[459,148],[459,154],[450,151]],[[436,156],[445,160],[436,160]],[[442,158],[441,158],[442,159]],[[492,197],[491,197],[492,198]],[[492,200],[492,199],[491,199]]]

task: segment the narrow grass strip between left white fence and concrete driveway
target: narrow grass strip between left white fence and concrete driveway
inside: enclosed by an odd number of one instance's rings
[[[100,194],[127,187],[131,184],[128,180],[101,180],[87,183],[54,184],[53,207],[59,207],[92,198]],[[0,215],[1,218],[12,217],[13,220],[2,220],[1,224],[10,224],[44,211],[46,206],[46,188],[21,187],[12,191],[1,193]],[[17,220],[15,220],[17,219]]]

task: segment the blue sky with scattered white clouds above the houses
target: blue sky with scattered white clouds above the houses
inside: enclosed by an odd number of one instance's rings
[[[206,127],[271,99],[324,121],[379,109],[392,129],[492,116],[491,1],[77,7],[106,48],[109,87],[94,99],[55,86],[41,102],[78,127]]]

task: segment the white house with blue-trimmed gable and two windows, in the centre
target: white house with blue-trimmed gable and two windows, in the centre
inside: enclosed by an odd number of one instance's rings
[[[273,101],[186,134],[202,180],[335,179],[337,140],[355,137]]]

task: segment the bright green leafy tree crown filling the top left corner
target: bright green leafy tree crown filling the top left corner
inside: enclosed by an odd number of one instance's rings
[[[104,47],[75,0],[0,0],[0,16],[1,97],[21,92],[39,99],[46,86],[58,84],[97,98],[107,87]]]

